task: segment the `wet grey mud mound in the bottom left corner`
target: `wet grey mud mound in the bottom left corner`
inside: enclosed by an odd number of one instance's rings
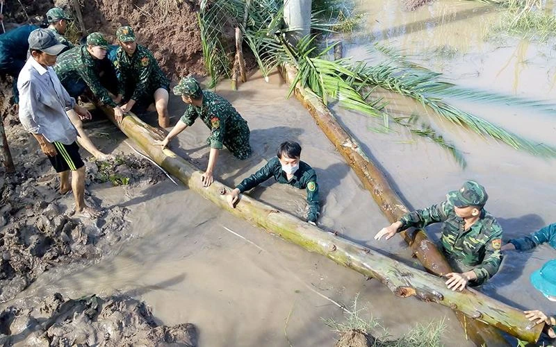
[[[197,346],[191,323],[157,325],[149,307],[133,298],[54,294],[34,307],[0,312],[0,344],[11,346]]]

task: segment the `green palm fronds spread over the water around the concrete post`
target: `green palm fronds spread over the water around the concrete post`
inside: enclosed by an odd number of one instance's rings
[[[227,42],[227,33],[231,28],[239,27],[265,78],[282,64],[297,68],[298,74],[289,94],[300,83],[325,104],[334,101],[342,108],[376,118],[379,126],[375,130],[392,132],[392,125],[395,124],[410,134],[427,137],[446,149],[461,167],[466,166],[462,153],[455,144],[447,142],[442,135],[436,133],[427,117],[429,112],[443,121],[471,130],[482,137],[504,142],[514,149],[543,157],[556,157],[556,149],[551,146],[537,144],[446,103],[441,95],[449,96],[452,90],[461,95],[461,90],[457,90],[452,83],[441,81],[441,74],[411,64],[402,54],[395,53],[392,49],[375,46],[377,51],[389,56],[386,61],[377,65],[348,58],[330,58],[329,51],[333,46],[322,48],[318,42],[337,26],[340,13],[347,11],[339,3],[335,0],[315,1],[313,33],[302,37],[294,46],[286,38],[288,29],[284,24],[281,1],[202,0],[199,25],[211,85],[215,85],[220,76],[230,76],[233,52]],[[353,13],[350,16],[353,17]],[[411,117],[391,115],[386,110],[388,102],[375,96],[378,90],[409,97],[423,105],[425,111]]]

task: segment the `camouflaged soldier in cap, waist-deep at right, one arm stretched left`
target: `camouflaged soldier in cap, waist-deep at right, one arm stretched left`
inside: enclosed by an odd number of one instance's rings
[[[502,227],[484,210],[489,196],[482,185],[467,181],[461,189],[449,192],[446,201],[425,210],[405,214],[400,221],[380,230],[375,239],[389,239],[409,227],[441,226],[441,249],[455,270],[448,273],[446,285],[463,290],[466,285],[481,285],[491,278],[502,262]]]

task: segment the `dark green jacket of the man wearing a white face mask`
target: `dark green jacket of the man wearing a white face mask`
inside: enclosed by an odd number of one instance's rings
[[[306,189],[307,204],[309,205],[307,221],[316,222],[319,210],[317,174],[315,173],[315,170],[309,166],[309,164],[306,164],[306,162],[300,161],[299,169],[295,171],[293,178],[288,180],[286,178],[286,173],[282,171],[280,160],[276,157],[272,158],[259,171],[256,171],[256,173],[241,181],[236,188],[243,193],[256,187],[257,185],[260,185],[272,176],[274,176],[275,180],[279,183],[286,183],[288,185],[293,185],[293,187],[296,188]]]

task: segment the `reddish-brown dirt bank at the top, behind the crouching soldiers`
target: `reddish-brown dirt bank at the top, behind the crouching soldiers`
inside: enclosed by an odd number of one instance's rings
[[[58,0],[56,4],[65,2]],[[96,0],[84,4],[83,20],[88,32],[100,31],[115,42],[116,29],[129,25],[138,42],[153,52],[170,78],[205,74],[197,1]]]

